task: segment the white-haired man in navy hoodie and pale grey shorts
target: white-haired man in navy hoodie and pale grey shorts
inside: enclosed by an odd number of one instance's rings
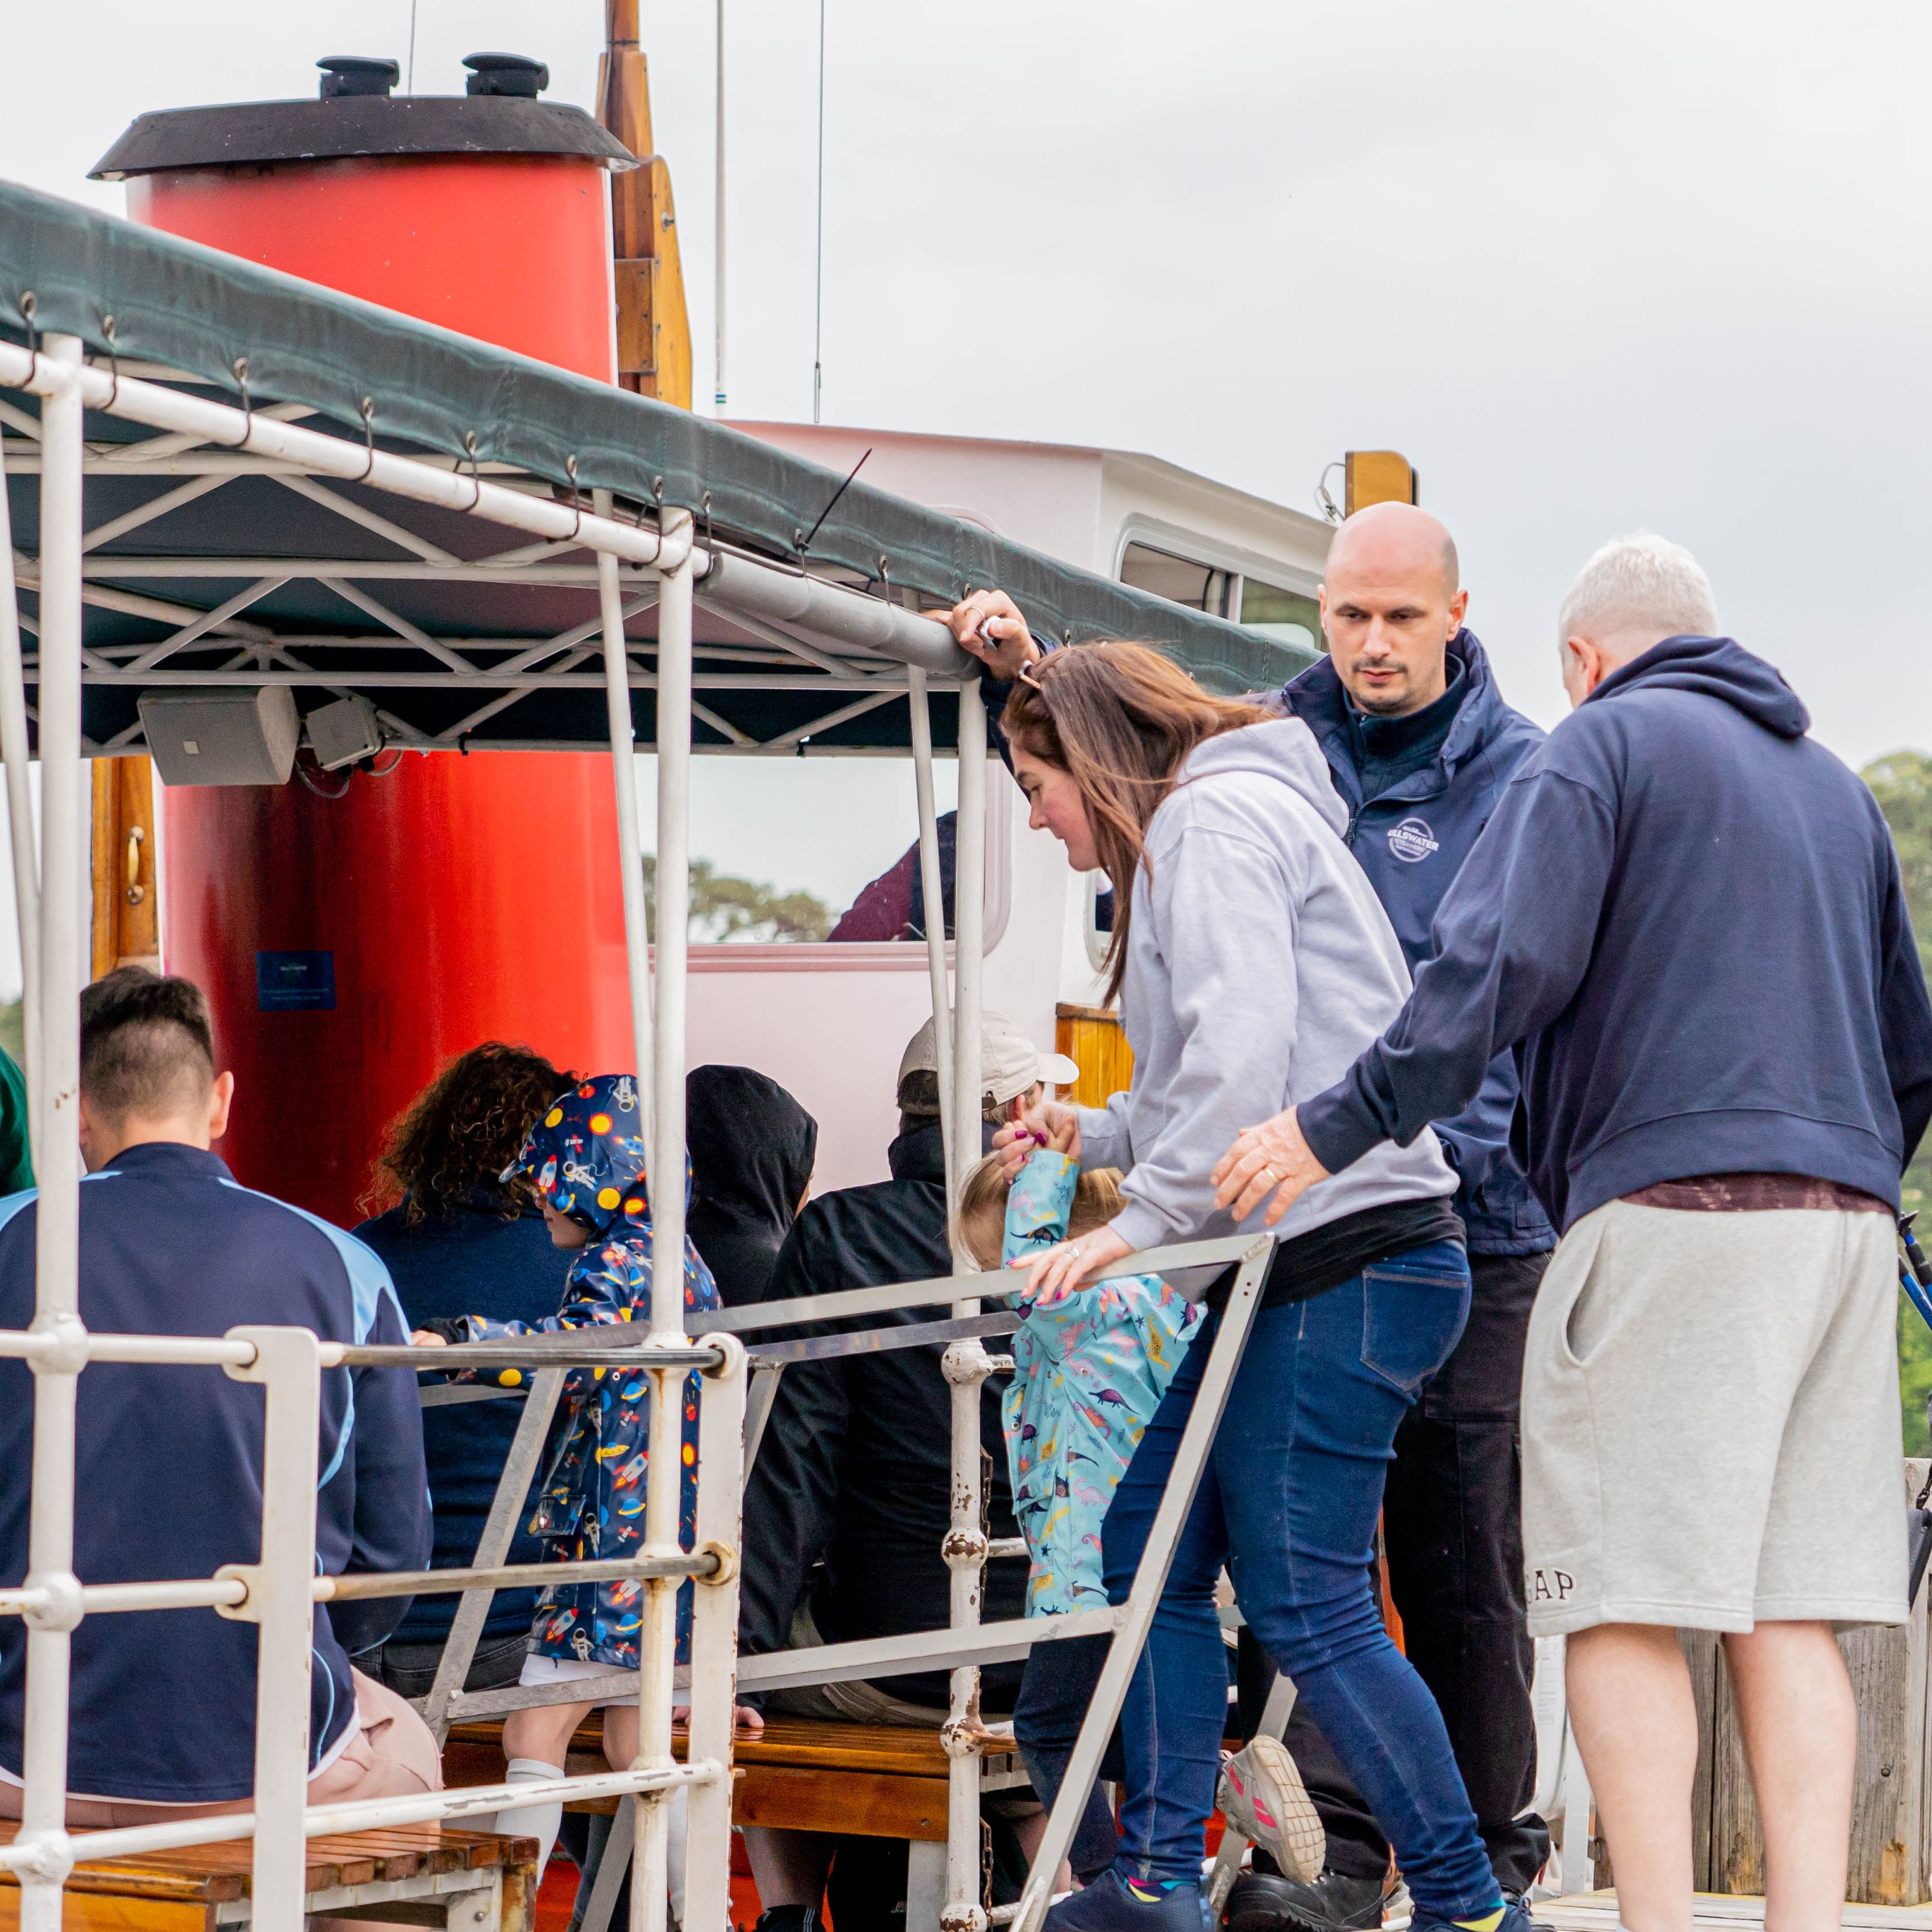
[[[1855,1712],[1833,1623],[1905,1619],[1899,1171],[1932,1007],[1897,856],[1804,705],[1718,628],[1694,558],[1605,545],[1561,618],[1575,711],[1517,769],[1408,1005],[1244,1132],[1223,1202],[1281,1213],[1466,1105],[1515,1047],[1563,1233],[1522,1379],[1530,1629],[1633,1932],[1689,1932],[1696,1712],[1725,1633],[1770,1922],[1835,1926]]]

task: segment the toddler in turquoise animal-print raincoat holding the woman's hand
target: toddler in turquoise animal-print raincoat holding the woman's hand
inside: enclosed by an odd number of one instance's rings
[[[1003,1265],[1022,1262],[1121,1206],[1109,1177],[1082,1175],[1053,1146],[1028,1155],[1005,1202],[1003,1190],[997,1155],[966,1177],[960,1235],[981,1265],[995,1242]],[[1026,1310],[1003,1420],[1012,1515],[1032,1557],[1030,1617],[1107,1602],[1101,1520],[1200,1314],[1153,1275],[1090,1281],[1053,1308]]]

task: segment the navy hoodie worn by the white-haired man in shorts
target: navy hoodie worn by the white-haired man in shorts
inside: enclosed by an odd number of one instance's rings
[[[1331,1173],[1461,1113],[1517,1049],[1557,1227],[1656,1180],[1814,1175],[1897,1206],[1932,1007],[1878,802],[1729,638],[1621,665],[1517,767],[1435,958],[1300,1109]]]

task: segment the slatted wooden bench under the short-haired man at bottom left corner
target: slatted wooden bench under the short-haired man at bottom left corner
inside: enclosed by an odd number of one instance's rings
[[[0,1820],[0,1843],[19,1826]],[[85,1832],[75,1837],[85,1839]],[[184,1845],[75,1864],[64,1932],[216,1932],[253,1918],[247,1839]],[[460,1932],[533,1932],[537,1841],[433,1824],[309,1839],[307,1913],[336,1913]],[[0,1872],[0,1932],[17,1932],[19,1880]],[[282,1932],[282,1928],[276,1928]]]

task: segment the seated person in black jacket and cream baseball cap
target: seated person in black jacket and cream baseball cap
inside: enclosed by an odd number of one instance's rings
[[[987,1012],[980,1072],[983,1153],[993,1128],[1037,1099],[1043,1080],[1065,1084],[1078,1068],[1041,1055],[1012,1020]],[[898,1107],[900,1132],[887,1153],[893,1179],[808,1204],[779,1252],[765,1300],[952,1273],[929,1020],[900,1061]],[[931,1318],[933,1310],[916,1308],[844,1325]],[[951,1573],[939,1546],[952,1517],[952,1389],[943,1354],[937,1345],[889,1349],[798,1362],[779,1378],[744,1493],[742,1656],[945,1629]],[[1001,1383],[981,1383],[983,1515],[989,1536],[1016,1538],[999,1401]],[[981,1615],[987,1623],[1026,1615],[1024,1561],[987,1565]],[[983,1708],[1010,1712],[1018,1687],[1020,1663],[989,1665],[981,1673]],[[744,1702],[937,1729],[947,1710],[947,1673],[781,1690]],[[761,1932],[806,1932],[825,1891],[827,1861],[835,1922],[887,1922],[904,1889],[904,1862],[893,1872],[873,1870],[879,1843],[748,1828],[746,1851],[765,1905]]]

